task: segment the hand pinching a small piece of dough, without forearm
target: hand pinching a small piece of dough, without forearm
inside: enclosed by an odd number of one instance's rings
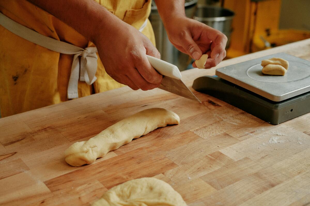
[[[165,23],[170,42],[193,59],[208,54],[205,68],[215,67],[226,57],[227,37],[218,30],[187,17],[170,18]],[[195,62],[193,67],[196,67]]]

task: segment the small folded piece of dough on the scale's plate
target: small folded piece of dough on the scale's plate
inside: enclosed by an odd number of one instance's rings
[[[263,60],[261,65],[263,66],[263,74],[269,75],[285,75],[289,68],[289,62],[281,58],[271,58]]]

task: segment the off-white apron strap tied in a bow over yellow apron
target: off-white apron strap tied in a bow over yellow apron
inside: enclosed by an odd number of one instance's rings
[[[147,25],[146,19],[143,25],[139,28],[142,32]],[[44,48],[62,54],[73,54],[73,63],[71,67],[71,74],[68,84],[67,96],[68,99],[78,98],[78,81],[86,82],[91,85],[96,81],[97,71],[97,48],[86,47],[80,48],[73,44],[69,44],[63,41],[55,40],[51,37],[44,36],[38,32],[35,32],[28,27],[25,27],[14,20],[8,18],[0,12],[0,25],[12,32],[13,34],[20,36],[21,38],[28,40],[34,44],[38,44]],[[79,61],[81,56],[81,61]]]

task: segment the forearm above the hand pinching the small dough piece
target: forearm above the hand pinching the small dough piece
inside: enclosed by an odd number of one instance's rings
[[[171,17],[185,17],[184,0],[154,0],[164,25]]]

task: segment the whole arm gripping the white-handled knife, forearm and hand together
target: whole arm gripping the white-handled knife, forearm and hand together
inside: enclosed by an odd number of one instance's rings
[[[134,90],[160,85],[162,75],[146,54],[160,58],[150,40],[93,0],[28,0],[73,27],[93,42],[106,72]],[[68,15],[70,14],[70,15]]]

